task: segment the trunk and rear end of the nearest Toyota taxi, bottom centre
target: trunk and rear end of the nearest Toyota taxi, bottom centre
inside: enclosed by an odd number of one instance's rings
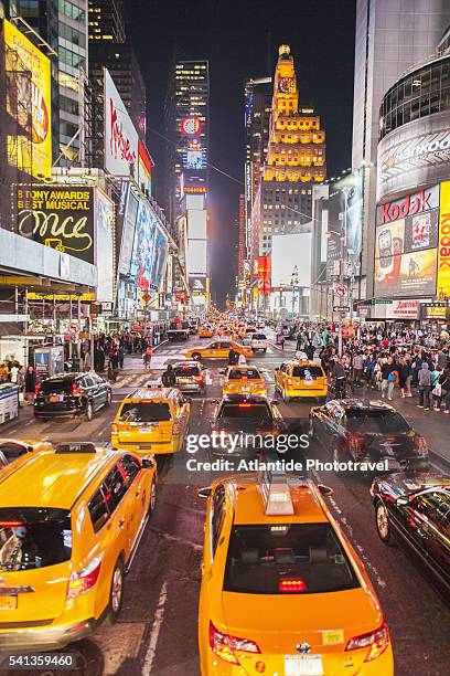
[[[345,626],[344,606],[349,609]],[[224,592],[223,617],[227,635],[253,642],[259,648],[255,653],[234,651],[245,674],[257,673],[255,667],[258,662],[265,664],[266,674],[280,676],[390,673],[388,664],[392,665],[392,657],[388,652],[365,663],[368,647],[345,651],[351,638],[369,633],[383,624],[376,604],[367,603],[362,589],[304,595]],[[298,629],[300,625],[301,631]],[[249,626],[257,629],[249,631],[246,629]],[[304,646],[303,649],[309,651],[304,655],[300,654],[302,644],[309,646]],[[374,668],[377,670],[374,672]],[[242,672],[236,665],[237,673]]]

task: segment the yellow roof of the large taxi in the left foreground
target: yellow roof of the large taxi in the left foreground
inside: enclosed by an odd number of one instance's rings
[[[71,509],[78,496],[120,454],[30,453],[23,463],[0,475],[0,507],[60,507]]]

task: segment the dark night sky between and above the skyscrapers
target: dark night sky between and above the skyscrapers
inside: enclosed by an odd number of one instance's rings
[[[244,178],[247,77],[274,75],[278,46],[294,57],[300,105],[313,105],[326,130],[328,176],[351,165],[355,0],[126,0],[128,34],[147,84],[148,146],[156,186],[163,166],[163,103],[174,50],[210,61],[210,162]],[[212,276],[217,300],[232,289],[244,186],[212,170]]]

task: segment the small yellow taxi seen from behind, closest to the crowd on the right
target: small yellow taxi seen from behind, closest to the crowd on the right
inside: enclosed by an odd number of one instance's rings
[[[328,381],[317,361],[285,361],[275,369],[275,389],[286,403],[300,397],[326,398]]]

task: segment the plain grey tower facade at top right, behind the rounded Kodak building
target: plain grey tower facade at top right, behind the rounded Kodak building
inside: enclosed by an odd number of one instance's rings
[[[447,0],[357,0],[353,169],[364,169],[363,293],[374,295],[376,162],[379,106],[407,68],[435,51],[450,20]]]

